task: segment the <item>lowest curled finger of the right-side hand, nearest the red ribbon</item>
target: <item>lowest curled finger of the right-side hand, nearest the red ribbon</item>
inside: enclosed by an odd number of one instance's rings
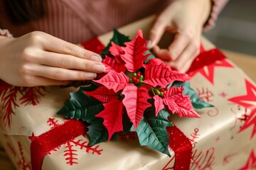
[[[183,50],[182,54],[178,57],[178,59],[172,62],[170,65],[174,69],[177,69],[178,72],[186,72],[195,57],[198,55],[199,47],[196,43],[191,42],[185,50]]]

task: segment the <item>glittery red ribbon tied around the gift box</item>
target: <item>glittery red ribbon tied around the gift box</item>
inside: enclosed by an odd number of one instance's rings
[[[104,50],[105,45],[100,42],[97,38],[82,42],[81,45],[87,50],[100,54]],[[213,64],[217,60],[225,58],[225,56],[217,49],[204,52],[203,46],[201,46],[201,54],[196,57],[189,72],[195,72],[201,67]],[[211,54],[211,55],[210,55]],[[188,140],[188,137],[181,132],[176,126],[167,128],[169,136],[169,147],[174,150],[175,153],[175,169],[189,169],[191,156],[192,156],[192,145]],[[62,125],[53,128],[52,130],[43,133],[42,135],[31,137],[31,162],[33,170],[40,170],[43,164],[43,158],[52,149],[58,147],[68,140],[72,140],[79,135],[85,134],[87,131],[85,123],[79,120],[68,120]]]

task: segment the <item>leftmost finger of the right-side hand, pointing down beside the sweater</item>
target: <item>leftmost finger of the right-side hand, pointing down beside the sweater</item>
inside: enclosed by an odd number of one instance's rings
[[[153,26],[149,30],[149,40],[146,43],[146,47],[152,48],[157,45],[166,28],[166,19],[159,16],[156,18]]]

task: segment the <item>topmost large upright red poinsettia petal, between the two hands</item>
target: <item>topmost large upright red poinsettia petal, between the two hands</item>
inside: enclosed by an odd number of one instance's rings
[[[126,47],[121,47],[125,54],[120,55],[125,62],[125,67],[129,72],[135,72],[137,69],[144,67],[144,61],[150,54],[144,55],[146,50],[149,50],[146,45],[146,40],[142,38],[142,31],[139,31],[134,40],[125,42]]]

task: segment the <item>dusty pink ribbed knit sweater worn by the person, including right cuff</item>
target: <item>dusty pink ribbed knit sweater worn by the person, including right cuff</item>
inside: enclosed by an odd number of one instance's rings
[[[45,0],[46,16],[16,26],[0,3],[0,28],[14,37],[40,30],[68,42],[79,43],[119,28],[146,16],[160,13],[174,0]],[[211,13],[205,29],[212,28],[218,13],[228,0],[212,0]]]

